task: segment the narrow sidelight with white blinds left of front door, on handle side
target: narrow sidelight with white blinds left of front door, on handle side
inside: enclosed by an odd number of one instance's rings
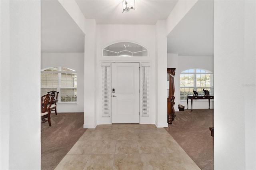
[[[110,117],[110,63],[102,63],[102,117]]]

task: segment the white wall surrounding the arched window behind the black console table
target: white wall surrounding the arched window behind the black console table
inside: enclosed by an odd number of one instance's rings
[[[185,106],[185,109],[191,109],[191,100],[180,101],[180,72],[198,68],[205,69],[211,72],[214,72],[214,57],[213,56],[179,56],[178,54],[168,54],[167,65],[168,68],[176,68],[176,73],[174,77],[174,86],[175,86],[175,111],[178,111],[178,105]],[[193,109],[208,109],[208,100],[193,101]],[[210,109],[214,108],[214,101],[210,100]]]

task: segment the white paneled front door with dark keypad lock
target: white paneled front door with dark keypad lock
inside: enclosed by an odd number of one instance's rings
[[[139,63],[112,63],[112,123],[140,122]]]

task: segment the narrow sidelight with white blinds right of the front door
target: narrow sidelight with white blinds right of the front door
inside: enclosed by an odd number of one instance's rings
[[[150,66],[142,64],[142,117],[148,117],[150,112]]]

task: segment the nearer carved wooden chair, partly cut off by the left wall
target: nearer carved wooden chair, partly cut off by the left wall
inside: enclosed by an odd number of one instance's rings
[[[52,97],[50,96],[50,94],[47,95],[43,95],[41,97],[41,119],[42,119],[42,123],[46,122],[46,118],[48,119],[48,123],[49,126],[51,125],[51,118],[50,118],[50,114],[51,114],[51,105],[52,105]]]

